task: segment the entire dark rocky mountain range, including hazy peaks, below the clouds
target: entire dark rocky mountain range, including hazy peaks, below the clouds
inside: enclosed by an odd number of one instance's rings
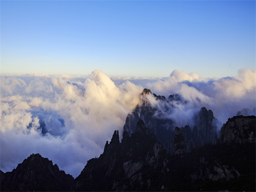
[[[157,116],[142,92],[98,158],[75,179],[52,161],[32,154],[11,172],[1,171],[1,191],[255,191],[255,116],[235,116],[218,133],[213,112],[202,107],[189,126]],[[161,102],[185,102],[179,95]],[[171,110],[171,109],[166,109]],[[158,113],[159,114],[159,113]],[[219,136],[218,136],[219,135]]]

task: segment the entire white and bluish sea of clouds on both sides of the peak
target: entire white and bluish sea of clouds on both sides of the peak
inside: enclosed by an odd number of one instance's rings
[[[0,169],[11,171],[30,154],[39,153],[77,177],[87,160],[103,152],[114,130],[122,133],[126,116],[140,103],[145,87],[166,98],[180,94],[187,101],[173,102],[174,110],[168,111],[154,96],[147,96],[159,108],[159,116],[181,127],[192,123],[205,106],[221,123],[220,129],[243,108],[255,113],[255,77],[256,70],[250,69],[221,79],[179,70],[158,79],[109,77],[99,70],[89,77],[1,75]]]

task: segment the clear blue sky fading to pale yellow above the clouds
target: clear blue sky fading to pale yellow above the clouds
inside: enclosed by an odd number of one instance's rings
[[[255,69],[255,1],[0,1],[1,74]]]

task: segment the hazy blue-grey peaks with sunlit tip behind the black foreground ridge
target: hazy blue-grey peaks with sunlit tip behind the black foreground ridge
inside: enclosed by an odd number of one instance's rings
[[[146,127],[151,129],[156,135],[156,139],[167,149],[171,154],[174,153],[173,140],[175,137],[175,123],[170,119],[162,115],[162,111],[158,107],[153,107],[146,95],[150,95],[149,89],[144,89],[141,93],[141,103],[133,112],[129,113],[126,118],[126,122],[123,127],[123,131],[127,131],[128,134],[132,134],[135,131],[136,124],[139,119],[145,122]],[[172,102],[187,103],[186,100],[178,94],[173,94],[166,99],[164,96],[157,96],[153,94],[155,99],[164,106],[164,110],[167,113],[172,113],[175,106]],[[195,119],[191,121],[196,122],[196,126],[191,128],[187,125],[181,127],[181,134],[184,137],[186,152],[191,151],[196,146],[203,146],[206,143],[215,143],[217,137],[218,120],[214,118],[213,112],[207,110],[206,107],[202,107],[199,113],[195,116]]]

